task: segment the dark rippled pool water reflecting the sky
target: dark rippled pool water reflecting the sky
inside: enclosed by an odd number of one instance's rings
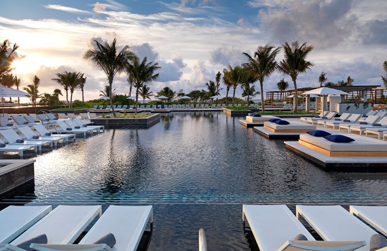
[[[37,156],[9,204],[153,205],[148,250],[250,250],[242,204],[387,205],[385,173],[326,172],[221,112],[173,112]],[[12,155],[0,155],[12,158]]]

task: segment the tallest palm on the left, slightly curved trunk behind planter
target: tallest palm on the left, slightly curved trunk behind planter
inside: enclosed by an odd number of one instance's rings
[[[135,53],[129,50],[129,46],[127,45],[123,46],[121,51],[117,52],[115,38],[111,44],[108,44],[107,42],[100,44],[97,40],[94,40],[94,42],[97,45],[97,49],[87,50],[83,57],[85,59],[91,59],[94,62],[94,65],[100,68],[106,74],[107,80],[109,82],[109,88],[112,90],[114,76],[117,73],[120,74],[125,71],[128,60],[135,59],[137,57]],[[111,93],[109,98],[113,116],[115,117]]]

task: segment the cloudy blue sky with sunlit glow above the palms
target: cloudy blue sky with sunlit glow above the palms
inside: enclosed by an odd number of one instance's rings
[[[51,80],[56,73],[80,71],[88,77],[86,100],[98,98],[108,83],[83,54],[94,40],[114,38],[162,67],[158,81],[149,84],[154,94],[165,86],[206,89],[218,71],[246,62],[242,52],[296,40],[314,46],[307,58],[314,66],[299,76],[298,87],[318,85],[323,71],[332,82],[351,76],[354,85],[381,85],[385,10],[385,0],[15,0],[0,9],[0,41],[20,46],[13,66],[21,86],[36,75],[40,93],[52,93],[59,88]],[[277,60],[282,58],[281,50]],[[265,91],[277,90],[282,78],[292,86],[288,76],[274,73],[265,79]],[[115,77],[117,94],[129,92],[126,79]],[[81,99],[80,90],[74,99]]]

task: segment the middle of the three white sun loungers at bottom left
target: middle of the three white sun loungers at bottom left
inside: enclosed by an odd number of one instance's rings
[[[12,241],[11,244],[17,245],[40,234],[47,235],[47,244],[71,244],[97,216],[101,215],[101,206],[61,205]]]

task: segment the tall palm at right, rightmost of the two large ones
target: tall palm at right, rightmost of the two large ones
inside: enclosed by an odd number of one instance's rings
[[[291,45],[285,42],[282,48],[284,49],[284,59],[278,64],[278,71],[292,78],[294,85],[294,112],[296,112],[298,105],[297,77],[312,68],[313,64],[306,60],[306,56],[313,50],[313,46],[306,45],[306,43],[299,45],[298,41],[295,41]]]

